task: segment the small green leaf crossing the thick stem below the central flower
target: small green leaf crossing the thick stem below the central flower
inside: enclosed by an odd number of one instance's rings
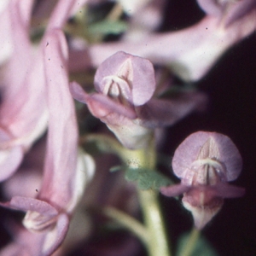
[[[125,171],[125,178],[128,181],[137,181],[139,189],[159,189],[160,187],[166,187],[172,183],[172,181],[161,174],[148,169],[132,169],[128,168]]]

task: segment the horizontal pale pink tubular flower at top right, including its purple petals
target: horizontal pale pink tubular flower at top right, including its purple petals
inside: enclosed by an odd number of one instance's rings
[[[195,25],[178,31],[149,33],[131,42],[93,44],[88,49],[79,49],[80,56],[90,56],[79,61],[81,67],[98,67],[108,56],[124,50],[154,64],[171,67],[183,80],[202,79],[226,50],[253,34],[256,5],[254,0],[198,2],[206,16]],[[73,54],[77,56],[75,51]]]

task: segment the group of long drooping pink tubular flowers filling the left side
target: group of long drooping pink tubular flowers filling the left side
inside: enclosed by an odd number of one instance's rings
[[[26,172],[31,183],[24,184],[25,187],[20,183],[18,194],[1,203],[2,207],[26,212],[24,228],[15,228],[16,242],[3,248],[1,255],[53,253],[66,236],[71,214],[94,172],[90,156],[78,152],[79,131],[68,90],[67,41],[57,22],[67,20],[72,4],[61,1],[55,7],[34,56],[28,34],[32,1],[26,2],[29,3],[9,1],[4,10],[14,15],[9,32],[14,45],[6,64],[0,110],[2,181],[17,171],[23,154],[46,126],[48,133],[41,188],[30,178],[33,173]],[[66,5],[66,13],[63,5]],[[27,186],[36,189],[37,195],[20,192],[27,190]],[[37,233],[33,233],[35,231]]]

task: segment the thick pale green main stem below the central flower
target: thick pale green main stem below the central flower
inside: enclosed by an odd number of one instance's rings
[[[155,169],[154,143],[148,148],[129,150],[125,154],[126,164],[131,168]],[[160,210],[158,191],[138,189],[138,197],[148,230],[148,255],[171,256],[170,242],[166,236],[165,222]]]

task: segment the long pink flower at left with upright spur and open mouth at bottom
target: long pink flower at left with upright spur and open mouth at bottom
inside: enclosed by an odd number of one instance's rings
[[[1,255],[51,255],[66,236],[69,218],[94,172],[90,156],[78,153],[77,120],[68,90],[66,38],[61,30],[51,29],[42,45],[49,107],[44,177],[37,198],[17,195],[1,203],[26,212],[26,230],[19,229],[16,242],[4,248]]]

